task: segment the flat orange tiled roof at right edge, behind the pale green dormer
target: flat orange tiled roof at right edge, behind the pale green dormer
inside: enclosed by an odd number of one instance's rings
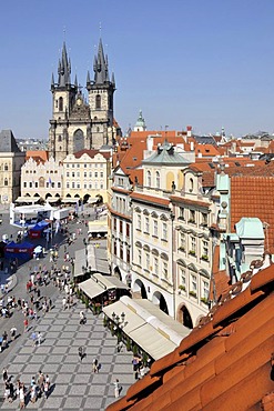
[[[266,169],[267,167],[265,167]],[[274,170],[274,168],[272,168]],[[257,217],[268,224],[265,230],[265,249],[274,253],[274,177],[231,178],[231,231],[242,217]]]

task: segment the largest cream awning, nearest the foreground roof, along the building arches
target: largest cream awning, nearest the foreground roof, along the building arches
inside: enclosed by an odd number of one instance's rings
[[[122,331],[154,360],[174,351],[191,332],[149,300],[132,300],[124,295],[104,307],[103,312],[112,321],[113,313],[123,318]]]

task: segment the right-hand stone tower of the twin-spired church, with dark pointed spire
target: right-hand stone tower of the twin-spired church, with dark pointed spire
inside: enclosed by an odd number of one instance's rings
[[[87,78],[89,106],[92,121],[91,146],[99,149],[103,144],[112,144],[113,131],[113,94],[115,91],[114,74],[109,78],[108,56],[104,56],[102,40],[99,41],[98,56],[93,62],[94,78],[90,72]]]

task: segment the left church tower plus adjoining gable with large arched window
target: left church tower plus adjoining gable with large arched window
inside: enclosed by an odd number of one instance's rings
[[[90,149],[91,119],[89,106],[78,86],[71,83],[71,62],[65,43],[58,64],[58,82],[52,74],[52,119],[50,120],[49,151],[57,161],[68,154]]]

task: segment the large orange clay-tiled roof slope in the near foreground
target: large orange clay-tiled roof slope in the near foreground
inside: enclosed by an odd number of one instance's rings
[[[255,411],[272,404],[273,291],[274,264],[253,275],[244,292],[213,308],[211,320],[106,410]]]

